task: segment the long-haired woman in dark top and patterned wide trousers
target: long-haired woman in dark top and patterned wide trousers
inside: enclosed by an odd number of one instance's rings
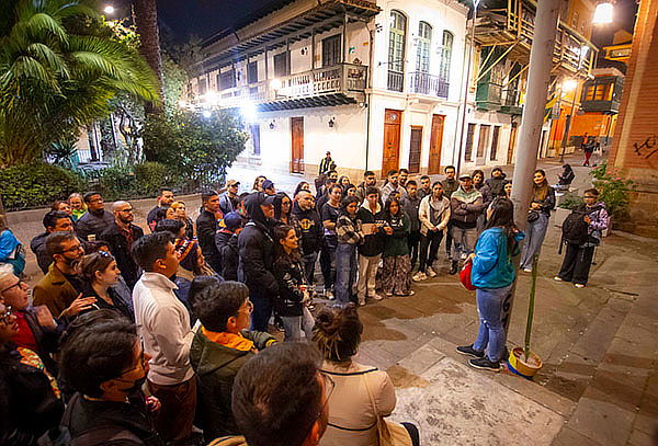
[[[387,297],[393,295],[413,296],[411,289],[411,261],[409,260],[409,217],[402,210],[399,198],[390,197],[384,205],[384,220],[387,232],[384,252],[384,268],[382,273],[382,289]]]

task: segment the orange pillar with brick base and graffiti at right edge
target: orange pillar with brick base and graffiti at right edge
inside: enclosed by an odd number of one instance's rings
[[[636,182],[623,229],[658,237],[658,0],[639,3],[609,167]]]

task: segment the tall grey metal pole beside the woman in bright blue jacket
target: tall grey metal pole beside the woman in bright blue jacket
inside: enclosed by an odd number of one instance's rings
[[[526,100],[519,128],[519,150],[512,180],[512,202],[517,226],[525,229],[527,209],[532,195],[532,174],[537,165],[537,151],[546,111],[546,98],[551,84],[551,69],[553,68],[553,48],[559,15],[560,0],[542,0],[537,2],[535,30],[530,52],[530,69],[527,73]],[[514,258],[518,270],[520,259]],[[514,282],[510,294],[503,302],[502,321],[506,327],[510,322],[513,296],[517,288]]]

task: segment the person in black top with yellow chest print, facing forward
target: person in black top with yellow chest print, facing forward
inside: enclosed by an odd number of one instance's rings
[[[315,264],[322,245],[322,221],[313,204],[313,194],[302,190],[295,196],[293,206],[293,214],[297,217],[302,230],[304,271],[309,286],[313,286],[315,282]]]

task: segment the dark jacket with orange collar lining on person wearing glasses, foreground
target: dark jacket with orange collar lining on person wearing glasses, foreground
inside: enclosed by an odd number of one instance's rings
[[[259,351],[276,342],[269,333],[242,330],[241,334]],[[197,413],[207,438],[238,433],[230,409],[232,384],[240,368],[253,355],[251,351],[230,348],[211,341],[201,328],[194,333],[190,364],[198,379]]]

